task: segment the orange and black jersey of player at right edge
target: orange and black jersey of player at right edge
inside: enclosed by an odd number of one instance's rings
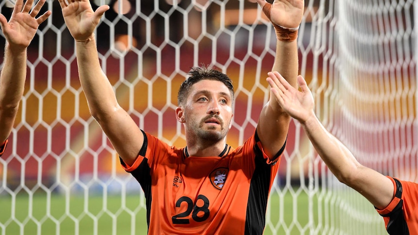
[[[389,177],[394,186],[392,202],[377,212],[390,235],[418,234],[418,184]]]

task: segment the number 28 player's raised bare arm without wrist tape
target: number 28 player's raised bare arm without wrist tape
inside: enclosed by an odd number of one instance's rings
[[[98,59],[94,30],[109,10],[100,6],[94,12],[89,0],[59,0],[65,24],[76,41],[80,83],[91,114],[106,133],[125,163],[132,165],[144,142],[144,136],[117,100]]]

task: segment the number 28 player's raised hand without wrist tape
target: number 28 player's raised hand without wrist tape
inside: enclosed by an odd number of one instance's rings
[[[87,41],[93,37],[100,18],[109,10],[102,5],[93,11],[89,0],[59,0],[65,24],[76,41]]]

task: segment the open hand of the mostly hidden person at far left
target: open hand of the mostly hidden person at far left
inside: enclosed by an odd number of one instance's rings
[[[45,1],[39,0],[31,11],[33,0],[27,0],[24,6],[23,0],[16,0],[9,22],[5,16],[0,14],[1,31],[10,47],[25,49],[31,44],[39,25],[51,15],[51,11],[47,11],[42,16],[35,18]]]

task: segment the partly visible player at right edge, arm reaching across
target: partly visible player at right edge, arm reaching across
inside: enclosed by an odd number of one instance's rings
[[[299,91],[279,74],[276,76],[279,83],[271,92],[283,109],[301,123],[315,150],[338,180],[374,205],[390,235],[418,234],[418,184],[361,165],[316,117],[314,99],[305,79],[297,78]]]

